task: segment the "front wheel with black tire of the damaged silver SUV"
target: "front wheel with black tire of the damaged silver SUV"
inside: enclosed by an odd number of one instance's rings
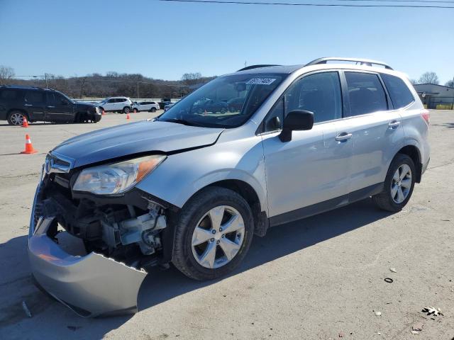
[[[233,271],[253,239],[253,214],[243,197],[209,187],[182,208],[172,263],[189,278],[212,280]]]

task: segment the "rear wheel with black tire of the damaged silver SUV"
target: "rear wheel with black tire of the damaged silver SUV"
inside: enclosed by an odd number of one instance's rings
[[[383,191],[372,200],[382,210],[398,212],[404,208],[413,193],[416,167],[406,154],[397,154],[389,165]]]

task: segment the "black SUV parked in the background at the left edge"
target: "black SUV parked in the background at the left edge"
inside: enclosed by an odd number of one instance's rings
[[[0,120],[22,125],[23,117],[55,123],[98,123],[99,108],[77,103],[59,91],[32,86],[0,86]]]

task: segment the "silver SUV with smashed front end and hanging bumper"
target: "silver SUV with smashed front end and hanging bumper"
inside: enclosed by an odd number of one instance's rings
[[[84,316],[134,312],[150,266],[210,280],[269,227],[368,197],[397,212],[428,165],[428,123],[409,80],[381,62],[218,77],[154,120],[49,152],[31,217],[33,276]]]

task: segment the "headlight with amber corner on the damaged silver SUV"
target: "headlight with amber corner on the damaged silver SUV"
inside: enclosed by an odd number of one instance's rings
[[[155,169],[166,156],[155,154],[125,162],[94,166],[84,169],[72,190],[89,191],[97,195],[124,193]]]

